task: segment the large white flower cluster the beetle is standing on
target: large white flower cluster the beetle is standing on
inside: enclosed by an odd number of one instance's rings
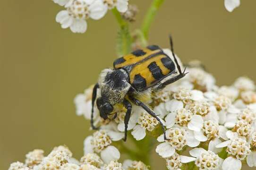
[[[155,151],[166,160],[169,170],[179,170],[191,161],[200,170],[229,170],[230,164],[232,170],[239,170],[243,160],[250,167],[256,166],[254,82],[240,77],[233,85],[219,87],[211,74],[192,66],[188,66],[189,74],[184,78],[146,100],[166,128],[167,140],[160,134]],[[90,119],[91,94],[89,88],[75,98],[77,114],[86,119]],[[114,120],[102,121],[95,107],[94,122],[101,130],[85,139],[85,153],[100,153],[105,162],[119,159],[119,151],[111,144],[124,136],[125,111],[118,107]],[[155,135],[159,125],[145,110],[133,105],[128,130],[136,140],[147,133]],[[180,155],[188,148],[192,148],[192,157]],[[228,154],[224,160],[218,155],[223,152]]]

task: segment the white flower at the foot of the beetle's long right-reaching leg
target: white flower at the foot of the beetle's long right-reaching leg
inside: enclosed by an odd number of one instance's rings
[[[175,150],[182,150],[182,148],[187,144],[186,140],[186,130],[182,128],[173,127],[166,130],[166,137],[168,140],[164,142],[163,135],[159,136],[157,140],[163,142],[159,144],[155,151],[163,158],[172,156]]]

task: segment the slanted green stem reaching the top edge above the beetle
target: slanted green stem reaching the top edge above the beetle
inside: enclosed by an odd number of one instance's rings
[[[160,8],[164,0],[154,0],[151,7],[148,9],[144,22],[141,27],[141,31],[144,34],[145,39],[148,39],[149,28],[154,20],[157,10]]]

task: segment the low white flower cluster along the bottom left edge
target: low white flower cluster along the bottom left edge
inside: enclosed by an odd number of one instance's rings
[[[72,157],[66,146],[55,147],[44,157],[43,150],[35,149],[26,154],[25,163],[11,163],[9,170],[149,170],[141,161],[125,160],[104,162],[96,153],[85,154],[80,161]]]

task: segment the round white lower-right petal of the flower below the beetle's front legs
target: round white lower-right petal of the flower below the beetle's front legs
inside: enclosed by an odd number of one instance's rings
[[[110,145],[101,152],[101,158],[108,164],[110,161],[119,160],[120,152],[115,146]]]

